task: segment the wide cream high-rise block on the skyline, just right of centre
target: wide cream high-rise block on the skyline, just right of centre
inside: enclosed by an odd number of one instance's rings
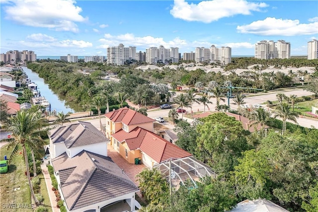
[[[232,60],[232,49],[230,47],[217,48],[212,45],[210,48],[195,48],[195,62],[208,62],[228,64]]]

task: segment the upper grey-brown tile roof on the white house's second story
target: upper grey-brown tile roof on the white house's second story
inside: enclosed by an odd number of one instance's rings
[[[53,130],[53,143],[64,142],[67,148],[108,142],[109,140],[89,122],[75,122]]]

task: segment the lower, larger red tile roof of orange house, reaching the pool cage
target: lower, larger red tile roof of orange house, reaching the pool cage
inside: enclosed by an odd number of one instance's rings
[[[130,150],[142,150],[158,163],[169,158],[183,158],[192,155],[169,141],[140,127],[135,128],[130,133],[120,130],[111,136],[119,142],[126,141]]]

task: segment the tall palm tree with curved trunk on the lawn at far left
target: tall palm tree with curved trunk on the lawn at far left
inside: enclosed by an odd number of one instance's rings
[[[28,146],[30,150],[36,150],[38,144],[43,142],[40,135],[47,133],[46,129],[42,129],[45,122],[46,120],[39,116],[38,113],[29,113],[26,110],[21,110],[17,112],[16,116],[13,116],[9,119],[10,125],[2,126],[6,131],[12,132],[10,139],[1,140],[1,142],[9,142],[8,148],[12,148],[9,161],[11,161],[11,159],[16,155],[20,147],[23,149],[26,175],[28,178],[31,195],[36,205],[39,205],[40,202],[36,198],[33,191],[26,146]]]

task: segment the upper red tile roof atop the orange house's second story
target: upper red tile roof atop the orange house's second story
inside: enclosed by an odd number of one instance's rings
[[[155,121],[127,107],[106,113],[105,116],[112,122],[122,122],[125,125],[138,125]]]

